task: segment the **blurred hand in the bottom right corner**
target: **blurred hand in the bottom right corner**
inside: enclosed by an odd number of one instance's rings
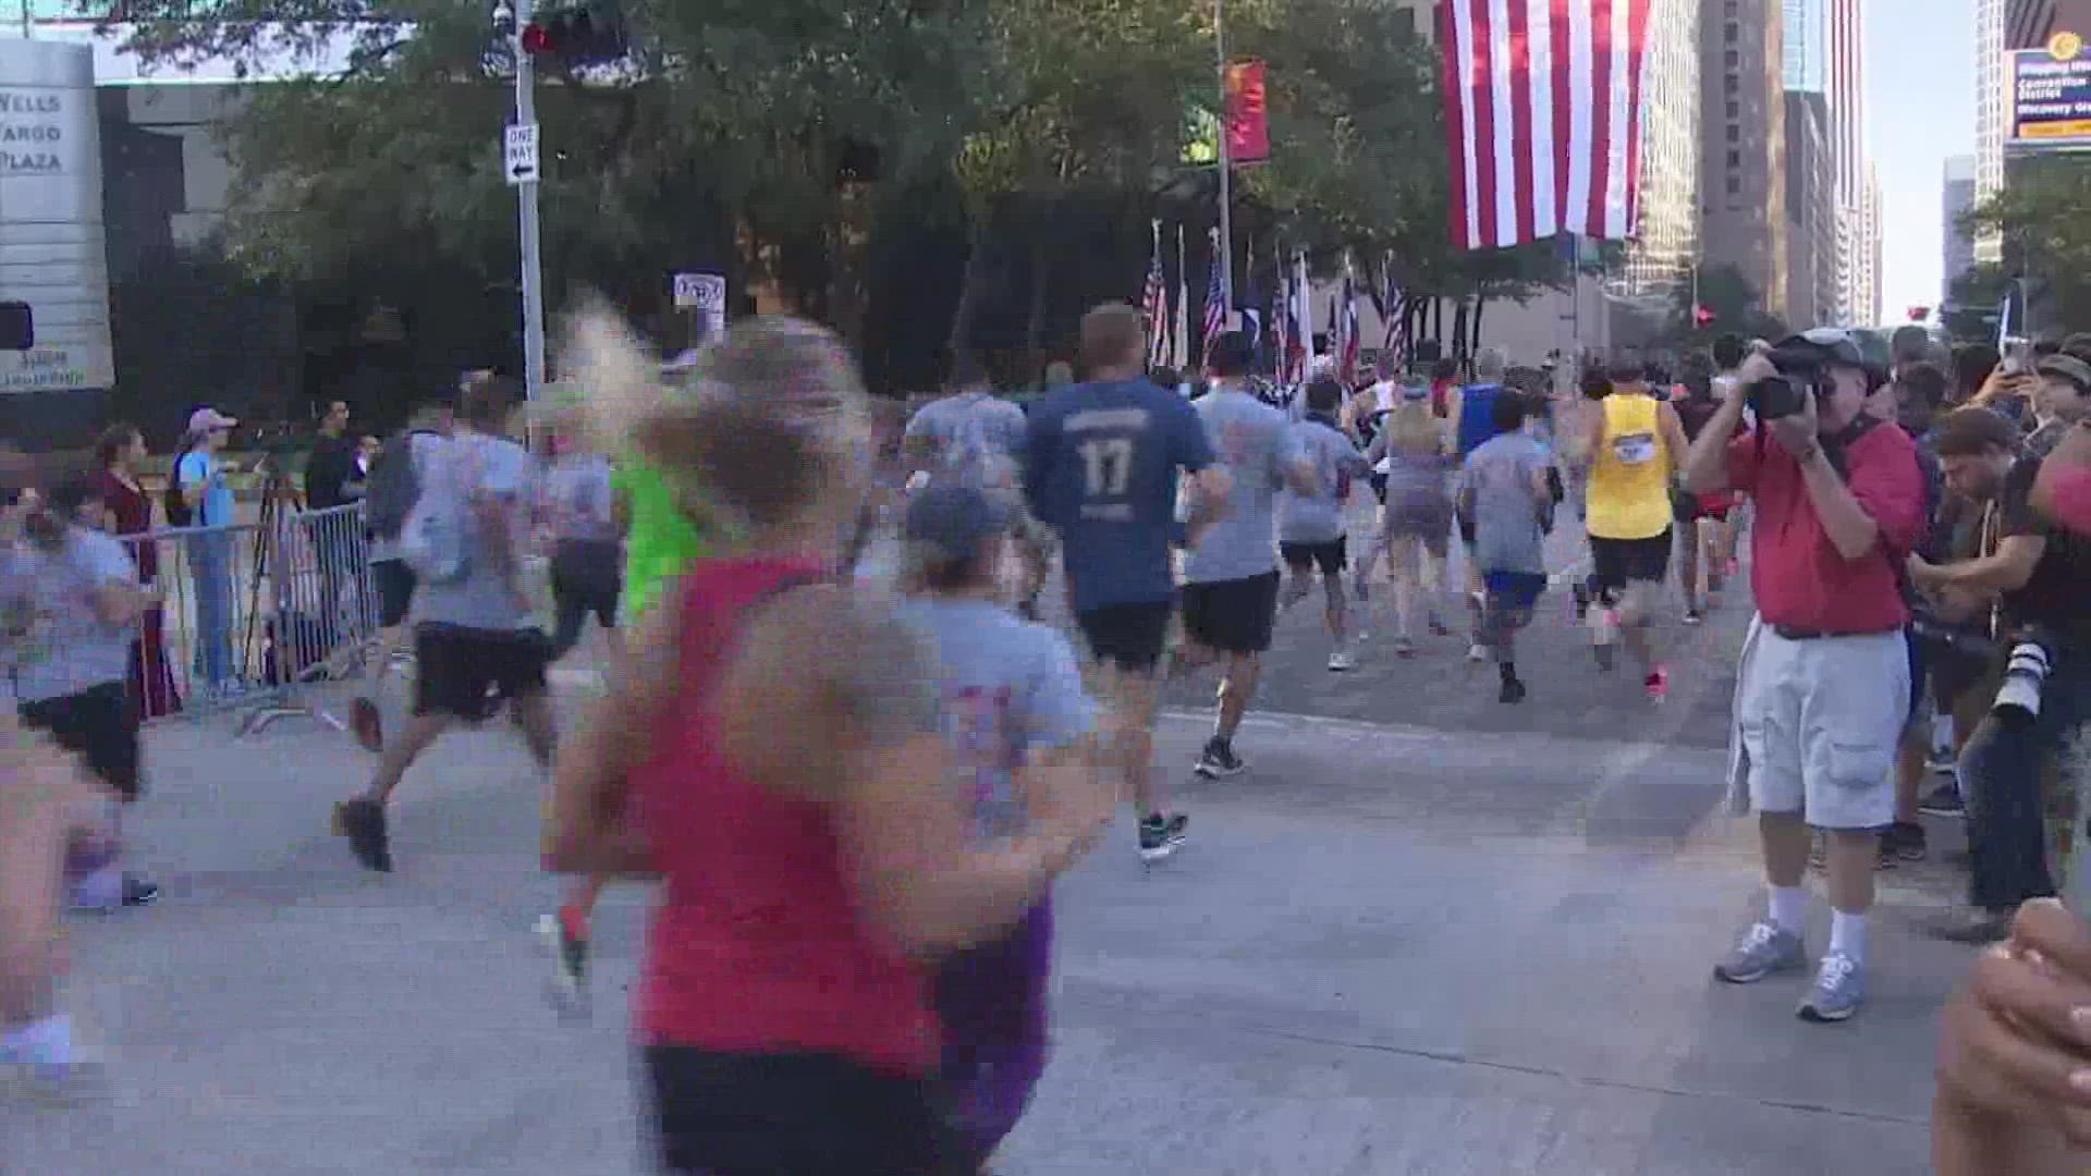
[[[2060,902],[2020,906],[2012,940],[1984,952],[1947,1004],[1938,1099],[2091,1145],[2091,931]]]

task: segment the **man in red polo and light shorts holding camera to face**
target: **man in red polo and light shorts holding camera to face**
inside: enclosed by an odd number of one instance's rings
[[[1752,354],[1685,460],[1694,494],[1756,502],[1756,617],[1736,684],[1731,793],[1759,814],[1769,912],[1715,967],[1752,983],[1805,967],[1809,829],[1828,833],[1830,950],[1798,1015],[1844,1021],[1865,1000],[1865,914],[1880,831],[1894,822],[1894,749],[1909,714],[1901,561],[1924,527],[1909,433],[1863,412],[1876,377],[1857,341],[1817,329]],[[1736,435],[1744,408],[1759,427]]]

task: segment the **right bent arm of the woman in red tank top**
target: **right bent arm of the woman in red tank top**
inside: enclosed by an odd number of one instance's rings
[[[1020,919],[1110,818],[1092,785],[1033,831],[970,847],[935,655],[876,598],[799,588],[746,617],[734,644],[715,691],[721,749],[757,785],[830,806],[861,914],[912,954]],[[807,647],[855,657],[805,659]]]

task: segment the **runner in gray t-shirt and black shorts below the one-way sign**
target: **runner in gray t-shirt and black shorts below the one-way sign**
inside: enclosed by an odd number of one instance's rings
[[[414,607],[414,718],[387,743],[370,787],[335,806],[335,833],[355,860],[391,873],[385,806],[406,770],[456,722],[485,722],[512,703],[539,764],[552,764],[554,726],[546,686],[550,640],[531,624],[519,584],[516,546],[535,498],[535,458],[498,433],[514,381],[489,377],[458,402],[456,435],[433,442],[427,479],[406,523],[420,578]],[[416,548],[427,555],[416,557]]]

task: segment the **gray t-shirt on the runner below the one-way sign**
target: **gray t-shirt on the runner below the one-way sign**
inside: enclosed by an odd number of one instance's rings
[[[416,446],[420,456],[420,446]],[[420,492],[462,496],[458,517],[464,519],[466,571],[452,584],[420,584],[414,590],[414,619],[496,632],[521,632],[531,626],[531,607],[521,582],[502,575],[521,559],[519,544],[529,536],[529,506],[537,500],[537,458],[523,446],[481,433],[460,433],[431,446],[431,462],[422,467]],[[470,506],[475,494],[498,498],[508,511],[512,552],[500,552],[498,542],[477,521]]]

